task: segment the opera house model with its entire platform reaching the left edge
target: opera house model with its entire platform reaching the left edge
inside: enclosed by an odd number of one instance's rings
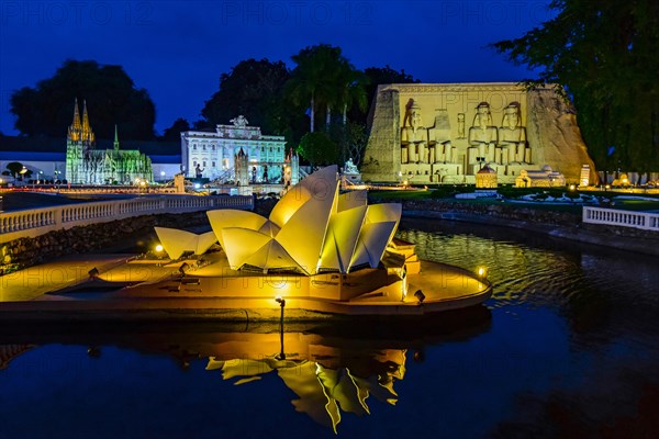
[[[283,323],[422,316],[490,297],[484,275],[420,261],[414,245],[394,238],[400,204],[368,205],[366,191],[339,185],[332,166],[289,190],[267,218],[214,210],[212,232],[156,227],[159,257],[59,261],[2,277],[0,319]]]

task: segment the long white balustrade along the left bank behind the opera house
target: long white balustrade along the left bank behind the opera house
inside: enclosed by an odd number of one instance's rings
[[[164,195],[133,200],[68,204],[0,213],[0,243],[35,237],[52,230],[107,223],[131,216],[186,213],[215,209],[254,209],[252,196]]]

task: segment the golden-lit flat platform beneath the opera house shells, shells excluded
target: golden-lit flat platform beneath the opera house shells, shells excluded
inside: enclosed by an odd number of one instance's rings
[[[93,258],[86,261],[93,264]],[[206,254],[199,268],[197,262],[124,257],[93,278],[86,275],[66,286],[46,281],[37,289],[35,273],[48,279],[51,270],[47,263],[33,267],[1,278],[0,319],[267,322],[281,319],[282,311],[287,322],[401,317],[470,307],[491,296],[487,280],[428,261],[421,261],[423,274],[403,279],[383,268],[312,277],[233,271],[222,251]],[[182,275],[183,264],[192,269]],[[38,295],[24,300],[18,290],[31,280]],[[286,301],[283,308],[276,297]]]

